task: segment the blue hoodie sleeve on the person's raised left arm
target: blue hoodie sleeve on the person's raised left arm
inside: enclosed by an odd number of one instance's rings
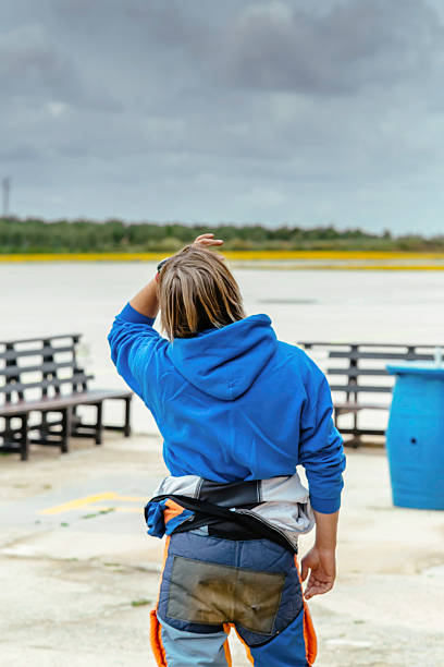
[[[153,323],[155,318],[141,315],[127,303],[116,315],[108,336],[119,375],[146,403],[146,380],[157,375],[156,352],[165,343],[152,328]]]

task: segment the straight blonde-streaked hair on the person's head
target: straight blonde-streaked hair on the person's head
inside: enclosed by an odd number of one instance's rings
[[[223,257],[186,245],[160,269],[159,305],[168,338],[190,338],[245,317],[236,280]]]

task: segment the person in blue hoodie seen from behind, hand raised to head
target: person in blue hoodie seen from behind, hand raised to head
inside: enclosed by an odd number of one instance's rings
[[[343,440],[325,376],[268,315],[246,316],[209,247],[222,243],[206,233],[163,260],[109,333],[170,472],[145,510],[148,532],[166,534],[151,646],[160,666],[226,666],[234,628],[254,665],[312,665],[307,601],[335,580]],[[299,573],[297,538],[314,523]]]

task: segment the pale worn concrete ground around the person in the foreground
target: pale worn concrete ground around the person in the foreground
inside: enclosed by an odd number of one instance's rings
[[[155,664],[162,544],[141,509],[164,472],[150,436],[0,457],[1,667]],[[443,665],[443,544],[444,512],[392,507],[383,450],[349,451],[337,583],[310,603],[317,666]]]

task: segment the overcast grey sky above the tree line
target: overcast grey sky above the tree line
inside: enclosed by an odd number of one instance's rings
[[[11,209],[444,232],[443,4],[2,0]]]

